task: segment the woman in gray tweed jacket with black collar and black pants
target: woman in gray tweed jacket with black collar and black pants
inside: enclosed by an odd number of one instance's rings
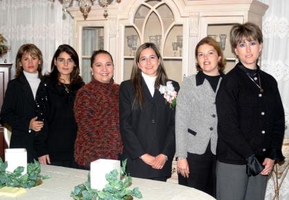
[[[195,47],[198,73],[184,78],[175,114],[178,173],[186,185],[215,197],[217,113],[215,96],[225,60],[215,39],[203,38]]]

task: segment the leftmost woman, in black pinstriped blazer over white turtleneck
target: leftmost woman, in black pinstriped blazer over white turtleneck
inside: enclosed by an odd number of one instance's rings
[[[8,82],[1,121],[12,128],[10,148],[26,148],[28,162],[37,159],[33,148],[34,137],[43,129],[43,113],[37,104],[39,93],[45,93],[45,85],[41,82],[43,58],[38,47],[33,44],[22,45],[16,57],[16,75]]]

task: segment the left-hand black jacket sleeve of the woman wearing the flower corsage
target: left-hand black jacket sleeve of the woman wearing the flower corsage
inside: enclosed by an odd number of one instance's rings
[[[129,99],[129,89],[127,85],[120,85],[119,93],[119,107],[120,107],[120,135],[122,137],[122,144],[125,147],[125,151],[131,159],[136,159],[145,152],[140,144],[138,137],[132,125],[132,111],[131,100]]]

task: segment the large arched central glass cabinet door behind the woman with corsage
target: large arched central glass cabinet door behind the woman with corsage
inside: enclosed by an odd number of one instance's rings
[[[138,7],[133,24],[125,25],[123,80],[131,76],[137,47],[146,42],[155,43],[170,79],[182,82],[183,25],[164,1],[144,1]]]

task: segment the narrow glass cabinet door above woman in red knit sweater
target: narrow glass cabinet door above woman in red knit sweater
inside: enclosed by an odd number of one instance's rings
[[[104,27],[83,27],[81,41],[81,76],[85,83],[92,80],[90,57],[92,53],[104,47]]]

